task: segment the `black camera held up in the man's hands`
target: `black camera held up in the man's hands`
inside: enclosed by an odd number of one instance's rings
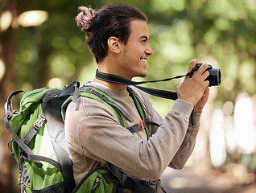
[[[190,77],[193,76],[193,72],[196,72],[202,64],[203,63],[196,64],[196,66],[191,71],[192,73],[191,73]],[[208,64],[208,68],[206,71],[208,71],[210,73],[206,79],[206,80],[209,80],[209,87],[210,86],[218,86],[221,84],[221,70],[220,69],[215,69],[212,67],[212,65]]]

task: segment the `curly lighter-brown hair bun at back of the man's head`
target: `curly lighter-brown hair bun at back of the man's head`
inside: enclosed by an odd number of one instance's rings
[[[77,26],[82,31],[90,32],[93,26],[93,18],[97,15],[96,10],[93,10],[91,6],[80,6],[78,9],[81,12],[76,16]]]

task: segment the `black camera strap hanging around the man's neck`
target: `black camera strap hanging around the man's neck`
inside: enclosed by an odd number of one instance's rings
[[[96,78],[98,80],[104,80],[107,82],[115,83],[115,84],[123,84],[123,85],[133,85],[134,87],[142,90],[143,92],[147,92],[148,94],[151,94],[153,96],[159,96],[161,98],[166,98],[166,99],[171,99],[175,101],[178,98],[177,92],[171,92],[167,90],[160,90],[160,89],[155,89],[155,88],[147,88],[147,87],[142,87],[138,86],[139,84],[146,84],[146,83],[155,83],[155,82],[166,82],[169,80],[173,79],[179,79],[184,76],[191,76],[193,72],[188,72],[186,75],[182,76],[175,76],[173,78],[166,78],[163,80],[149,80],[149,81],[138,81],[135,82],[133,80],[128,80],[126,78],[123,78],[121,76],[116,76],[112,74],[107,74],[104,72],[99,72],[98,70],[96,71]]]

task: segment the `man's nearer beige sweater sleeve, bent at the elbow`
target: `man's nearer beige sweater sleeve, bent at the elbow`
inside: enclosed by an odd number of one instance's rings
[[[177,162],[182,160],[181,165],[185,162],[182,155],[189,151],[186,141],[191,140],[189,133],[193,133],[188,132],[192,105],[185,101],[175,101],[147,142],[119,125],[114,114],[99,101],[82,97],[79,110],[74,109],[76,104],[68,105],[65,126],[71,150],[98,162],[111,162],[138,179],[159,179],[174,158]],[[76,146],[72,146],[72,142]],[[174,162],[171,166],[179,168],[180,164]]]

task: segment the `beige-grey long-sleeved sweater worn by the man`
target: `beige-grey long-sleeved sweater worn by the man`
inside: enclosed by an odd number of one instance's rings
[[[127,91],[116,91],[95,82],[87,84],[113,97],[130,114],[134,122],[126,121],[127,127],[140,121],[134,101]],[[196,115],[196,126],[192,127],[189,117],[193,106],[178,99],[163,120],[146,94],[133,89],[150,112],[147,116],[160,125],[159,128],[149,126],[149,140],[144,129],[130,133],[122,127],[114,113],[99,101],[80,97],[79,102],[68,105],[65,132],[76,183],[89,170],[105,166],[105,161],[137,179],[159,179],[167,166],[175,169],[184,167],[195,146],[200,114]]]

